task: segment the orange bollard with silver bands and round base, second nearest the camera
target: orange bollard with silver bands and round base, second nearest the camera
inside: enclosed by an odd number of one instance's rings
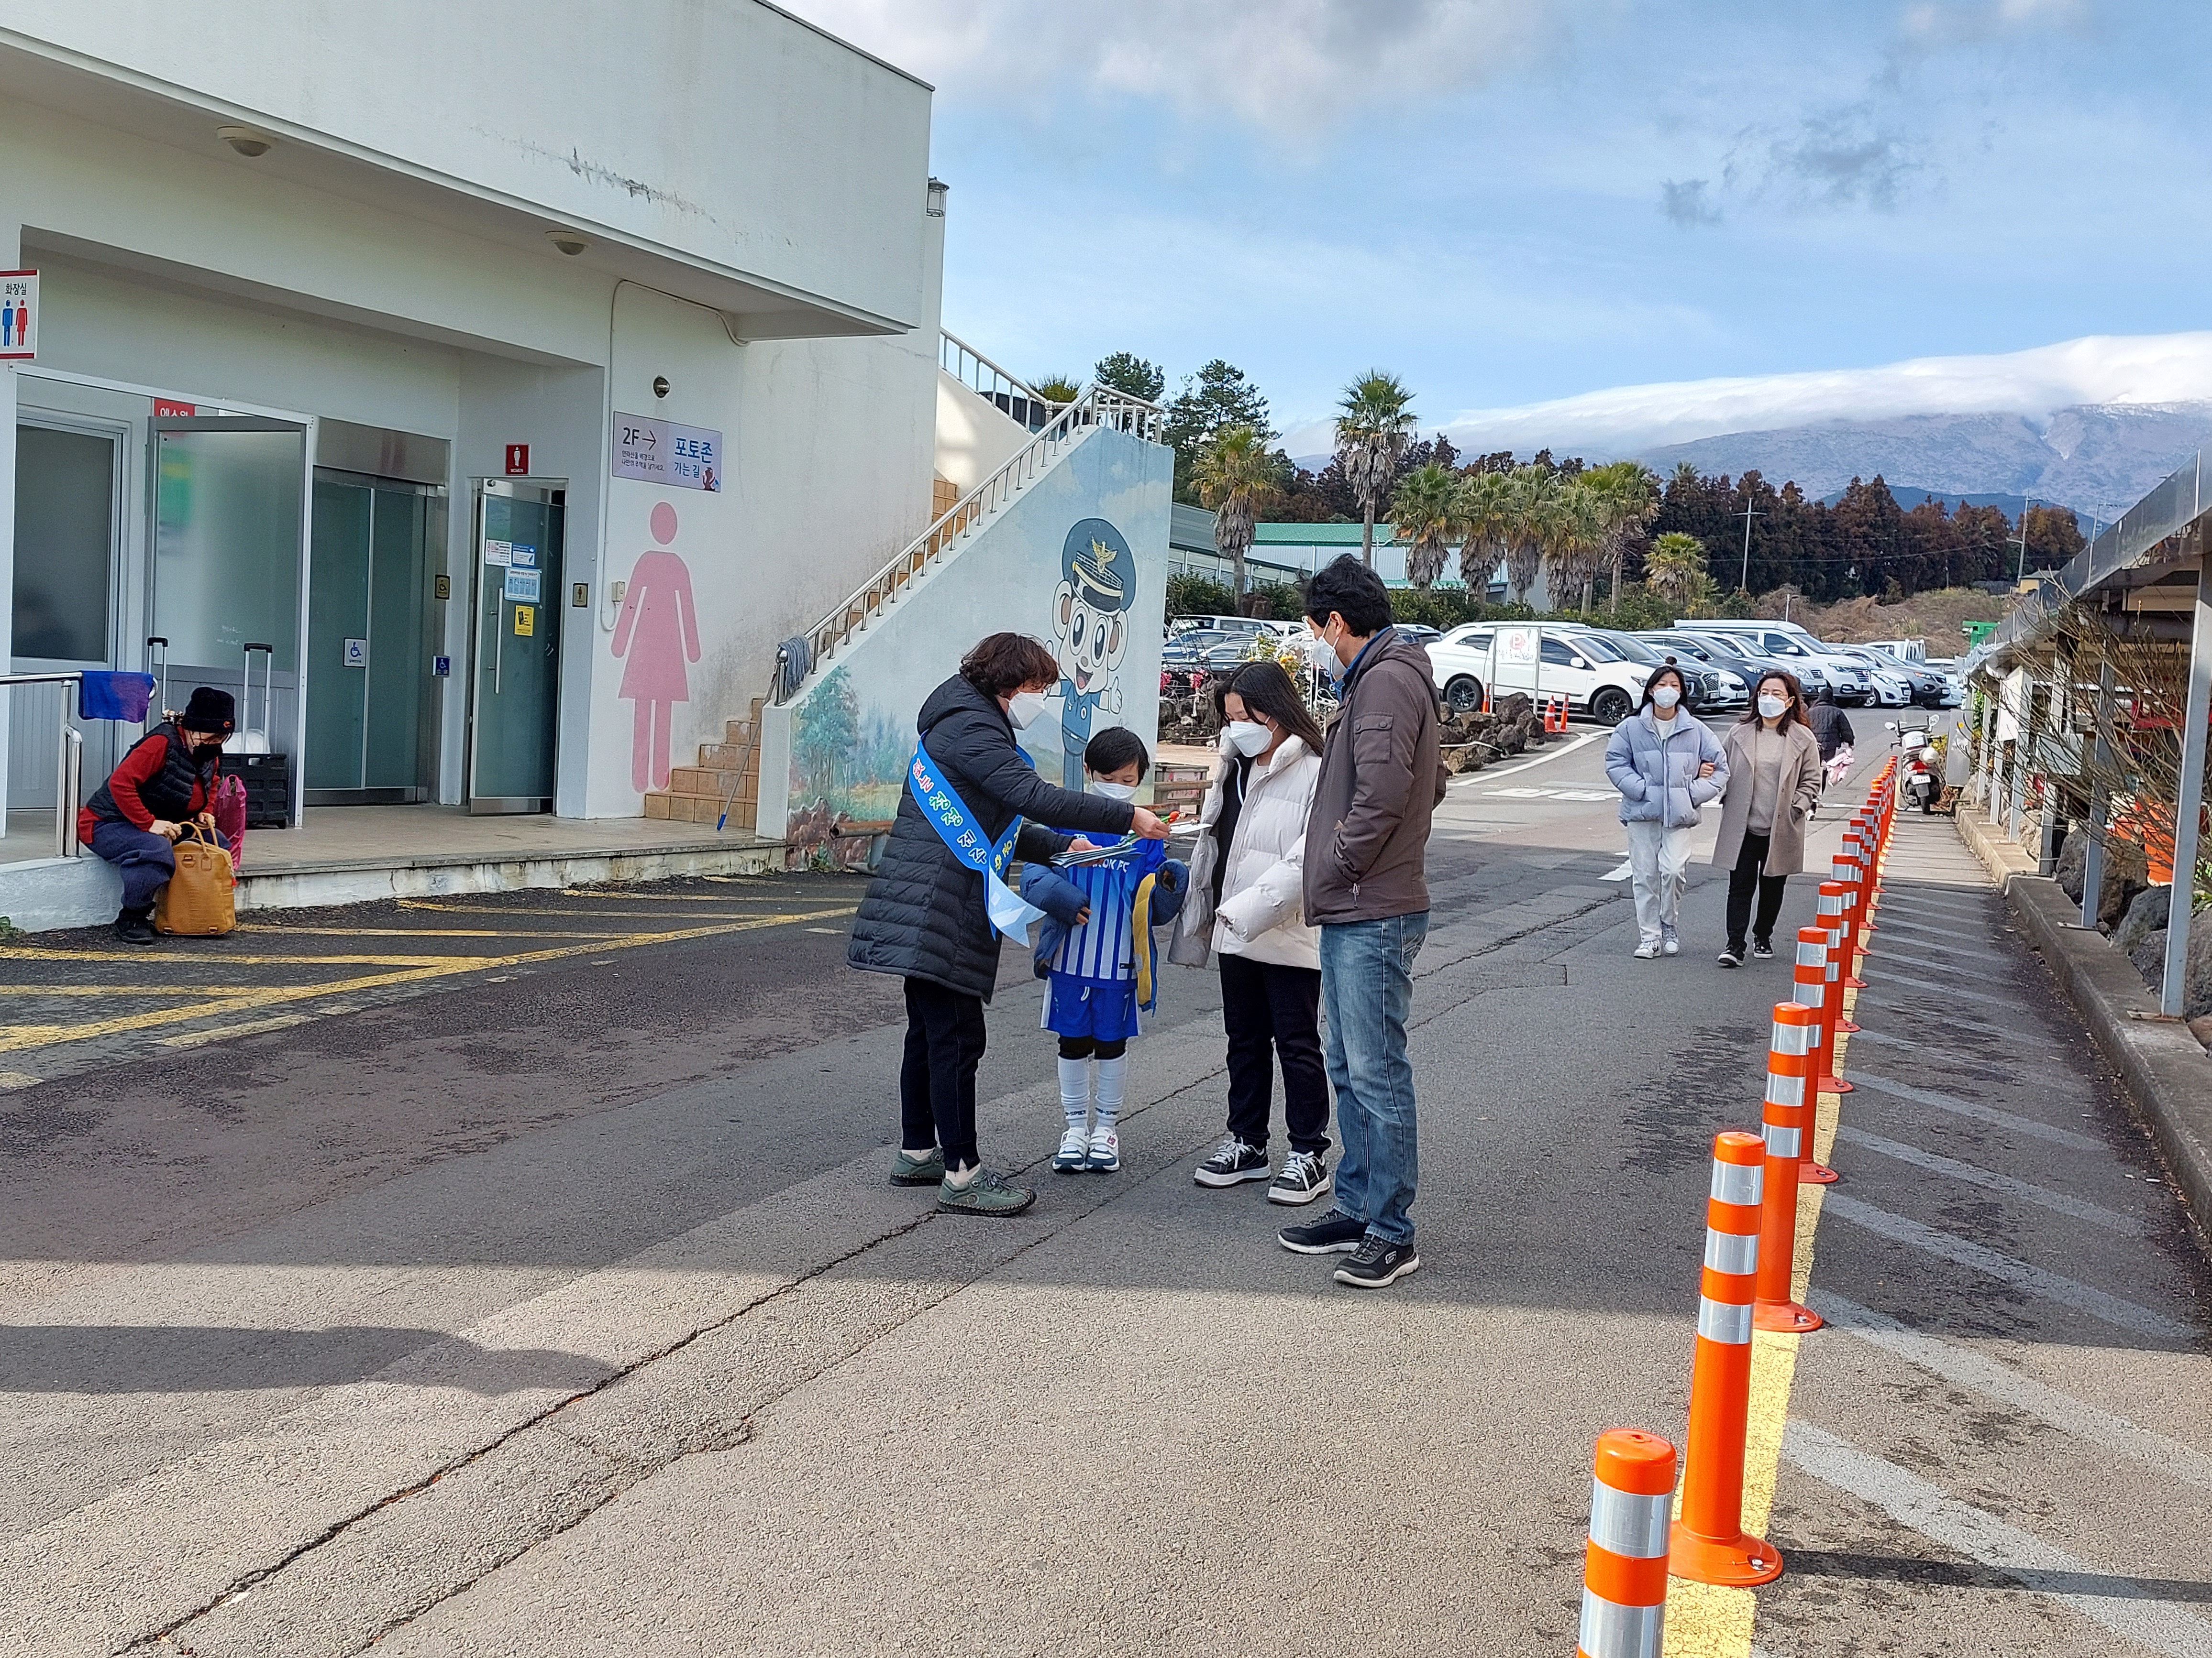
[[[1756,1134],[1730,1130],[1712,1141],[1690,1439],[1683,1448],[1681,1519],[1668,1545],[1668,1572],[1692,1583],[1772,1583],[1783,1570],[1781,1550],[1743,1532],[1743,1435],[1752,1410],[1752,1300],[1765,1161],[1767,1143]]]

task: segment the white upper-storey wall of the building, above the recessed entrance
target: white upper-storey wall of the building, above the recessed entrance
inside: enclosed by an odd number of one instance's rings
[[[933,323],[929,88],[757,0],[0,0],[0,29],[301,148]]]

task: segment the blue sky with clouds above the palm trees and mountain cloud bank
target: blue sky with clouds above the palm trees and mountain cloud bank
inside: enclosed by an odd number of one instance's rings
[[[945,321],[1015,371],[1429,427],[2212,325],[2201,0],[792,4],[938,86]]]

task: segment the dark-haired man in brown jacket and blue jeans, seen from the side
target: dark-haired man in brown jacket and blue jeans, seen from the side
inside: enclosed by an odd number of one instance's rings
[[[1336,1090],[1336,1207],[1276,1236],[1305,1256],[1349,1251],[1338,1284],[1383,1289],[1413,1253],[1413,1066],[1405,1019],[1429,935],[1429,818],[1444,798],[1429,652],[1391,628],[1389,588],[1352,555],[1305,584],[1312,659],[1336,676],[1305,822],[1305,920],[1321,926],[1325,1059]]]

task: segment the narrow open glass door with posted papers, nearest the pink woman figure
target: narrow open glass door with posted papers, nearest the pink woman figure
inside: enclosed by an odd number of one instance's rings
[[[476,486],[469,811],[553,809],[564,517],[560,486]]]

